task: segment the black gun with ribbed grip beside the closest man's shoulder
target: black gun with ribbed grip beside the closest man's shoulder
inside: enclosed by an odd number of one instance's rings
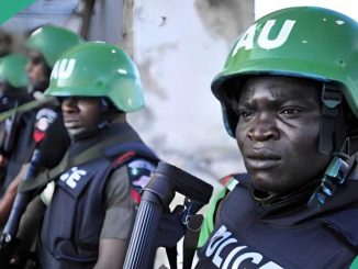
[[[158,247],[167,247],[170,267],[177,268],[177,243],[190,229],[190,218],[209,202],[212,191],[211,184],[160,161],[142,193],[123,268],[153,268]],[[186,202],[170,212],[176,192],[183,194]]]

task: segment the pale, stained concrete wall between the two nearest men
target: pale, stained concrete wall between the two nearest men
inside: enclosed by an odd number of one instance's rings
[[[135,0],[132,29],[124,30],[146,99],[130,121],[160,157],[214,186],[244,167],[210,83],[253,21],[248,0]]]

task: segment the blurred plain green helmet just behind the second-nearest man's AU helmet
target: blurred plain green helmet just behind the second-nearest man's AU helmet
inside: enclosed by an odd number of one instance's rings
[[[42,53],[46,64],[52,68],[64,52],[82,42],[81,36],[68,29],[45,25],[29,36],[25,46]]]

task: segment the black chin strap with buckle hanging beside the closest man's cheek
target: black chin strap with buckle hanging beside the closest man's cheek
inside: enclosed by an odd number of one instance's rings
[[[324,85],[322,90],[322,120],[320,130],[320,152],[333,155],[326,168],[321,184],[312,193],[309,208],[321,208],[328,198],[334,195],[337,187],[342,186],[355,166],[354,144],[357,135],[348,134],[342,105],[342,92]],[[349,135],[349,136],[348,136]],[[351,148],[353,146],[353,148]]]

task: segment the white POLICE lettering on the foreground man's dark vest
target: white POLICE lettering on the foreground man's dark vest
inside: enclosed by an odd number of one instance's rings
[[[243,262],[249,261],[257,265],[258,269],[283,269],[273,261],[267,261],[264,265],[264,256],[248,249],[247,246],[240,246],[234,235],[222,225],[213,237],[211,237],[205,256],[221,269],[238,269]]]

